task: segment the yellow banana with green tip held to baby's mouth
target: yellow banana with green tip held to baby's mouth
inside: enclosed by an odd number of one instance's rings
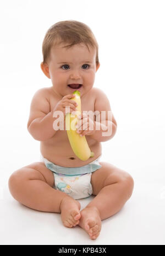
[[[65,127],[67,128],[67,135],[69,138],[70,146],[72,147],[73,152],[79,159],[86,161],[89,157],[94,156],[94,152],[91,152],[85,136],[80,136],[76,132],[75,125],[78,121],[78,115],[81,114],[81,99],[79,90],[75,90],[75,97],[72,98],[76,103],[78,103],[77,111],[75,115],[67,113],[65,116]]]

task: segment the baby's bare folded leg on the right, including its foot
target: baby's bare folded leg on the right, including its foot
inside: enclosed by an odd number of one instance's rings
[[[81,211],[79,226],[89,233],[92,239],[98,237],[101,220],[116,214],[133,192],[131,176],[112,164],[101,162],[101,168],[92,173],[92,194],[95,198]]]

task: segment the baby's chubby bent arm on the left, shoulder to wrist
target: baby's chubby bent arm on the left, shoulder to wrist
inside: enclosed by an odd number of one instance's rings
[[[31,100],[30,116],[27,122],[27,130],[38,141],[45,141],[56,134],[53,129],[53,111],[46,97],[45,88],[37,90]]]

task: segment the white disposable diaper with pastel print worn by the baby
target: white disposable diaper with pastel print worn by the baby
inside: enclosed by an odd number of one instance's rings
[[[101,156],[100,156],[101,157]],[[102,166],[100,157],[81,167],[62,167],[41,155],[41,161],[53,172],[54,188],[63,191],[74,199],[87,198],[92,194],[91,175]]]

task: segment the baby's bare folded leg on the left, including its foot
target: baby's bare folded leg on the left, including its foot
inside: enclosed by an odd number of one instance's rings
[[[79,223],[80,203],[53,189],[54,175],[44,163],[36,162],[15,171],[9,178],[9,190],[21,204],[45,212],[61,212],[66,227]]]

